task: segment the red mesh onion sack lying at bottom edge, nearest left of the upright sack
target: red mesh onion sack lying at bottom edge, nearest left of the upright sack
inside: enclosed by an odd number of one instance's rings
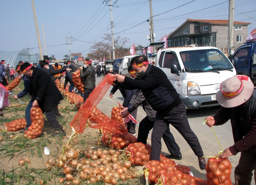
[[[155,183],[162,185],[174,185],[174,184],[190,184],[196,185],[196,179],[188,174],[182,173],[180,170],[168,169],[161,171],[158,174],[158,178]]]

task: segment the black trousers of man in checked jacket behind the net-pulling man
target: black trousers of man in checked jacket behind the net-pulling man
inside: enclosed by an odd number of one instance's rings
[[[139,123],[139,132],[137,142],[142,142],[143,144],[147,143],[149,131],[153,128],[154,121],[150,121],[148,116],[144,117],[142,121]],[[167,127],[162,136],[164,139],[165,145],[167,146],[170,154],[177,156],[180,155],[180,147],[175,142],[174,136],[170,132],[170,128]]]

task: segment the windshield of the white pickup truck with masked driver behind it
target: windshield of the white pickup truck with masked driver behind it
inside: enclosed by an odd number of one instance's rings
[[[219,50],[193,50],[180,52],[186,72],[231,70],[233,66]]]

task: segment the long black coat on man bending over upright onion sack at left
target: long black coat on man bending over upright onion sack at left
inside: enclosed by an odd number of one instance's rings
[[[39,107],[43,111],[50,111],[57,106],[63,96],[59,89],[45,71],[32,66],[33,73],[30,77],[31,94],[36,97]]]

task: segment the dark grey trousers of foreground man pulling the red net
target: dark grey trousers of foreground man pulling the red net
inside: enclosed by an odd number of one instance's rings
[[[151,137],[151,160],[160,161],[160,153],[162,149],[161,138],[169,124],[174,126],[182,137],[187,141],[196,156],[202,156],[203,150],[198,141],[196,134],[191,130],[187,120],[186,108],[183,103],[173,108],[165,115],[160,112],[156,113],[155,122]]]

